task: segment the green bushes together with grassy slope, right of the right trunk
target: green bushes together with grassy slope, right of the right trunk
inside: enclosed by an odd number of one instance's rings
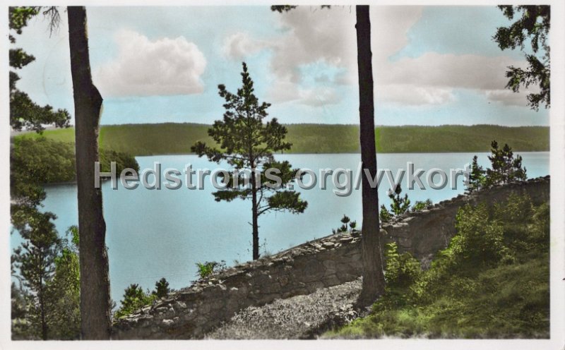
[[[387,246],[387,289],[326,337],[549,337],[549,205],[527,194],[460,208],[429,270]]]

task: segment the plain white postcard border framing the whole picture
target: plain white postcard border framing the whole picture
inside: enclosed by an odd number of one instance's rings
[[[187,6],[187,5],[261,5],[270,6],[273,3],[290,3],[301,5],[355,5],[359,1],[345,0],[295,0],[295,1],[264,1],[264,0],[167,0],[162,4],[157,0],[120,0],[119,6]],[[550,47],[552,49],[552,108],[550,109],[551,120],[551,152],[550,152],[550,174],[551,183],[551,218],[552,218],[552,245],[551,245],[551,339],[549,340],[459,340],[459,339],[374,339],[374,340],[315,340],[315,341],[216,341],[216,340],[194,340],[194,341],[113,341],[113,342],[12,342],[10,339],[10,279],[2,278],[0,289],[0,349],[94,349],[104,347],[105,349],[347,349],[355,346],[357,349],[565,349],[565,186],[563,183],[565,174],[565,1],[563,0],[514,0],[514,1],[492,1],[492,0],[365,0],[361,4],[371,6],[382,5],[487,5],[496,4],[549,4],[552,6],[552,35]],[[10,0],[8,4],[0,6],[0,18],[8,17],[8,6],[37,6],[45,4],[46,1]],[[54,0],[45,5],[86,5],[86,6],[114,6],[115,1],[102,0]],[[9,229],[9,138],[10,127],[8,122],[8,26],[4,20],[0,26],[2,47],[4,54],[0,56],[0,108],[3,117],[0,128],[0,183],[4,184],[0,192],[0,276],[8,276],[10,259],[10,236]]]

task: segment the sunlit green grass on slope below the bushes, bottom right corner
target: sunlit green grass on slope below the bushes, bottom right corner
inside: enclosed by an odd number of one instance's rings
[[[470,288],[359,318],[327,338],[546,338],[549,337],[549,257],[480,272]]]

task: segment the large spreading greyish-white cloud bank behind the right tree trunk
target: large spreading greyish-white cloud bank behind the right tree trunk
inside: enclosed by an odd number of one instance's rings
[[[371,51],[375,95],[381,102],[405,105],[445,104],[453,101],[455,89],[475,90],[505,104],[518,104],[521,95],[504,90],[507,66],[523,66],[508,56],[439,54],[427,52],[418,57],[391,57],[410,43],[408,32],[422,17],[422,6],[371,6]],[[270,71],[273,76],[268,99],[295,101],[321,106],[338,101],[339,85],[357,85],[357,35],[355,8],[299,6],[278,14],[283,35],[266,44],[237,33],[227,38],[225,49],[241,57],[261,49],[273,50]],[[304,69],[325,64],[338,73],[310,77],[314,86],[304,83]],[[314,74],[314,73],[312,73]],[[314,98],[314,96],[316,96]],[[336,102],[334,102],[336,103]],[[521,105],[525,102],[521,103]]]

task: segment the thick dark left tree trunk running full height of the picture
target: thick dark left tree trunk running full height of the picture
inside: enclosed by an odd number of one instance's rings
[[[81,334],[83,339],[109,339],[110,296],[106,223],[102,191],[94,187],[102,96],[92,82],[86,10],[69,6],[69,46],[75,104],[76,180],[81,265]]]

